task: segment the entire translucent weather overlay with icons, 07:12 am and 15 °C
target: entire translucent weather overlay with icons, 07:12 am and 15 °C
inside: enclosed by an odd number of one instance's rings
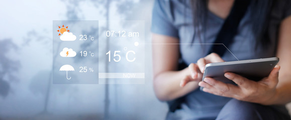
[[[53,83],[144,83],[144,21],[54,20],[52,36]]]

